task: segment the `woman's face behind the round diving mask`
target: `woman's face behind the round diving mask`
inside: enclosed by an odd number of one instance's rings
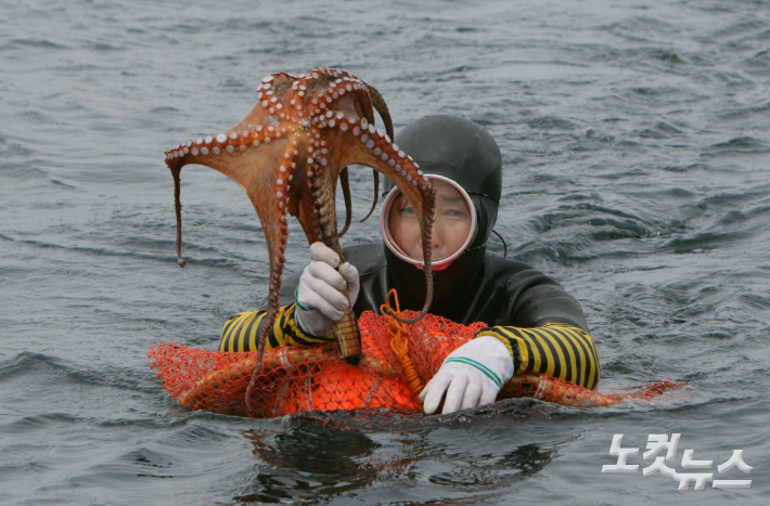
[[[473,232],[473,215],[465,197],[451,184],[433,180],[436,212],[431,236],[433,260],[447,258],[465,245]],[[390,206],[388,229],[396,245],[410,258],[423,257],[420,218],[403,194]]]

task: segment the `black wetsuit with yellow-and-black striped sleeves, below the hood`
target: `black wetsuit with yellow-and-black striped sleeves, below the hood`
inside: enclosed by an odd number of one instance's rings
[[[423,300],[398,283],[388,270],[389,250],[382,243],[354,246],[343,250],[345,259],[359,270],[361,289],[354,306],[357,316],[363,311],[380,313],[390,288],[399,294],[401,309],[420,310]],[[490,327],[477,336],[495,336],[508,347],[516,374],[546,373],[578,385],[595,388],[599,358],[588,334],[580,306],[559,283],[526,263],[486,254],[478,271],[434,301],[431,313],[453,322],[485,322]],[[412,268],[416,271],[416,268]],[[415,280],[421,277],[415,273]],[[313,346],[333,336],[309,336],[294,320],[294,288],[301,271],[283,282],[281,310],[266,349],[279,346]],[[401,286],[399,286],[401,285]],[[265,309],[240,313],[222,328],[221,351],[256,351]]]

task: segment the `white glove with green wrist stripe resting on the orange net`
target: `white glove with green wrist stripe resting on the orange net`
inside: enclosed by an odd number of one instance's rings
[[[445,392],[444,414],[476,407],[495,402],[512,377],[513,360],[505,345],[496,337],[482,336],[449,353],[420,400],[428,415],[436,411]]]

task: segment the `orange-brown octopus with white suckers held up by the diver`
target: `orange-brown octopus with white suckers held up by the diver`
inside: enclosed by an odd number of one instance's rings
[[[261,368],[266,338],[279,309],[286,261],[286,215],[299,221],[308,244],[323,242],[344,262],[335,207],[337,182],[346,204],[344,233],[350,223],[348,167],[374,169],[375,198],[377,172],[389,178],[421,217],[427,294],[420,314],[405,321],[410,323],[427,313],[433,299],[431,232],[435,208],[435,191],[428,178],[392,141],[390,116],[382,95],[357,76],[336,68],[318,68],[297,77],[272,74],[261,80],[257,99],[256,106],[232,128],[188,140],[166,152],[166,165],[175,183],[177,257],[181,267],[182,167],[197,164],[224,173],[246,192],[257,211],[267,242],[270,278],[255,375]],[[387,132],[375,129],[374,109]],[[334,335],[342,358],[355,360],[360,355],[360,334],[351,309],[335,325]]]

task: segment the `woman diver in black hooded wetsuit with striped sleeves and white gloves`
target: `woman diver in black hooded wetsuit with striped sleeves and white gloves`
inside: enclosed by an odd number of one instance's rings
[[[495,401],[514,374],[546,373],[595,388],[599,358],[578,302],[542,272],[488,252],[502,187],[502,158],[479,125],[428,116],[396,139],[437,189],[431,313],[462,324],[491,325],[454,350],[421,394],[431,414]],[[344,249],[346,263],[323,244],[312,261],[283,283],[282,307],[266,349],[333,340],[331,328],[348,300],[354,312],[377,312],[390,288],[401,309],[420,310],[426,293],[419,265],[419,225],[398,189],[383,204],[384,243]],[[416,241],[415,241],[415,230]],[[238,314],[222,329],[221,351],[255,351],[265,311]]]

